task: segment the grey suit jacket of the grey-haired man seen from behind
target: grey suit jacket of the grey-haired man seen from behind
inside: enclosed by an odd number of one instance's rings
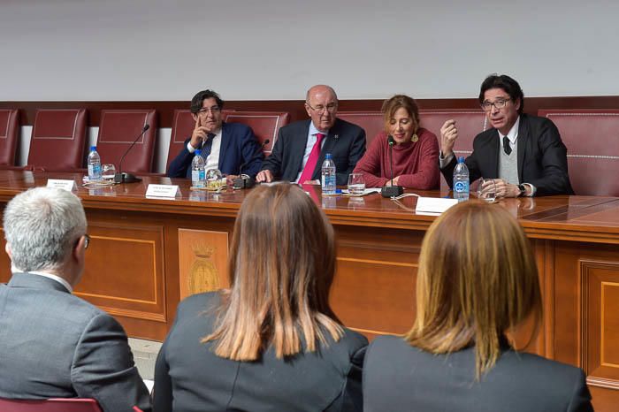
[[[104,411],[151,410],[118,322],[56,280],[0,285],[0,397],[95,398]]]

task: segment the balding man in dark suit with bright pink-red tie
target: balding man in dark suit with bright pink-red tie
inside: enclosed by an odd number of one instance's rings
[[[279,129],[271,156],[264,160],[258,182],[281,179],[319,184],[325,155],[331,153],[336,182],[346,185],[348,174],[365,152],[365,132],[359,126],[336,118],[338,96],[329,86],[317,85],[305,98],[310,120]]]

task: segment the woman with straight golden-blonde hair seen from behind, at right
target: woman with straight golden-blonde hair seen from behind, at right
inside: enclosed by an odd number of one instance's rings
[[[539,327],[541,308],[516,219],[484,202],[452,207],[424,237],[413,328],[368,348],[364,410],[592,410],[582,370],[516,352],[506,337],[525,321]]]

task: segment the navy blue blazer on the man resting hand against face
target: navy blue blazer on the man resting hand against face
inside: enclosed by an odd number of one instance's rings
[[[191,162],[194,160],[195,152],[189,153],[187,150],[187,143],[190,140],[191,137],[183,144],[179,156],[170,163],[168,177],[191,179]],[[243,172],[254,178],[260,172],[263,159],[263,151],[249,126],[241,123],[222,123],[218,166],[220,172],[235,175]]]

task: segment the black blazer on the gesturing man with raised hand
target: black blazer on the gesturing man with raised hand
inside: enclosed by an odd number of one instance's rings
[[[499,132],[489,129],[473,141],[473,153],[464,161],[470,181],[480,177],[499,177],[499,155],[502,150]],[[520,115],[518,126],[518,180],[537,187],[536,195],[574,195],[569,184],[568,149],[559,130],[548,118]],[[456,159],[441,170],[449,187],[453,187]]]

